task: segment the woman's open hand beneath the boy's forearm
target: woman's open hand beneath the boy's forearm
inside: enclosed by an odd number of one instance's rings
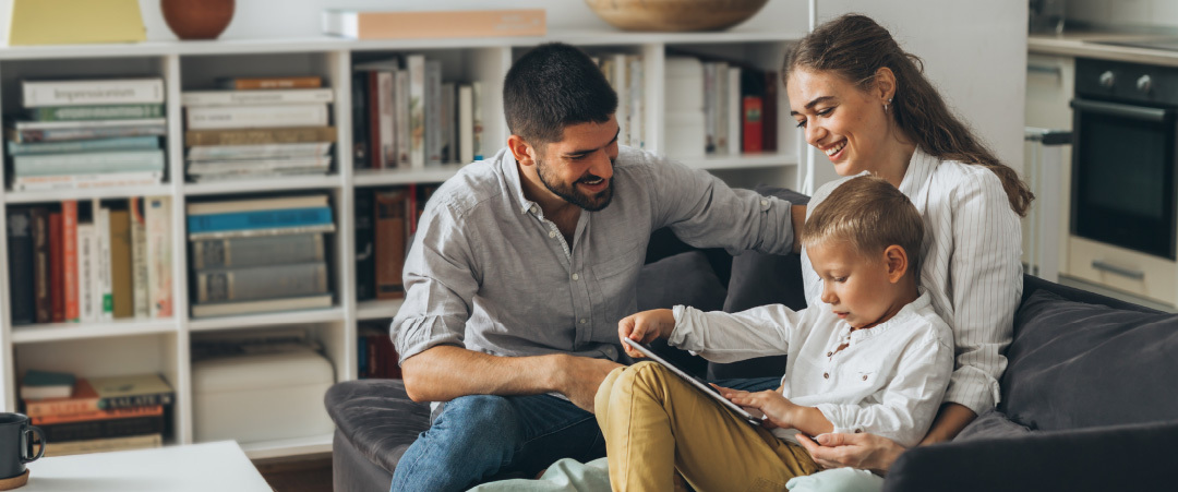
[[[880,476],[892,467],[905,447],[892,439],[875,434],[821,434],[818,443],[805,436],[798,436],[802,445],[814,458],[814,463],[825,468],[851,466],[871,470]]]

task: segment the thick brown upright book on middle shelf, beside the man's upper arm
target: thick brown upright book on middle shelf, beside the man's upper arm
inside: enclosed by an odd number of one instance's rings
[[[373,198],[376,298],[402,299],[402,270],[409,233],[409,188],[377,192]]]

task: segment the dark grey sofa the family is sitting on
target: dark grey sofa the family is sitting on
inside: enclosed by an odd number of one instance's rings
[[[801,292],[796,254],[729,257],[660,231],[638,308],[801,308]],[[782,357],[717,365],[669,353],[713,379],[785,370]],[[1178,318],[1026,277],[1007,357],[999,408],[953,443],[906,452],[885,490],[1178,488]],[[340,383],[325,403],[337,426],[335,490],[388,490],[397,460],[429,427],[429,406],[410,401],[399,380]]]

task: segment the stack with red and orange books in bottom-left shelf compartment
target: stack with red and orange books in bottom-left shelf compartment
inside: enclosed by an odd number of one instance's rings
[[[41,428],[45,456],[160,447],[173,391],[159,374],[77,378],[65,397],[33,398],[26,388],[47,373],[29,370],[21,386],[25,413]],[[74,379],[72,374],[48,373]]]

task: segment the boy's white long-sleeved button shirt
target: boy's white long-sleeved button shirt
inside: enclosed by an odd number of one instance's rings
[[[859,331],[820,299],[809,305],[739,313],[675,306],[668,341],[716,363],[787,354],[782,393],[794,404],[818,407],[834,432],[868,432],[904,446],[919,443],[953,372],[953,332],[933,311],[928,293],[921,290],[892,319]],[[796,432],[777,428],[773,434],[794,440]]]

